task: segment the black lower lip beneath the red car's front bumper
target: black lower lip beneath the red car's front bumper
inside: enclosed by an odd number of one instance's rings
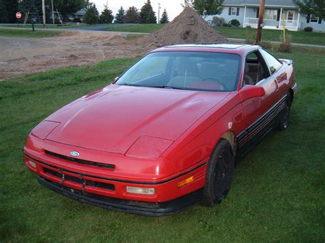
[[[43,177],[38,177],[38,182],[55,192],[82,203],[88,203],[97,207],[143,216],[167,216],[174,214],[200,202],[203,195],[203,188],[201,188],[195,192],[181,196],[178,199],[173,199],[164,203],[144,203],[80,192],[78,190],[61,186],[58,183],[48,181]]]

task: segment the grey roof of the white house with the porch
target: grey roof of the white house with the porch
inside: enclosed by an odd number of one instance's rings
[[[250,6],[260,5],[260,0],[224,0],[224,5],[236,5],[236,6]],[[278,6],[278,7],[292,7],[298,8],[292,0],[265,0],[265,7]]]

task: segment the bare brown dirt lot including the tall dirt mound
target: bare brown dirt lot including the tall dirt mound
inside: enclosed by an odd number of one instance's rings
[[[228,42],[194,10],[136,40],[104,31],[65,31],[53,38],[0,37],[0,80],[64,66],[94,64],[112,57],[141,56],[169,44]]]

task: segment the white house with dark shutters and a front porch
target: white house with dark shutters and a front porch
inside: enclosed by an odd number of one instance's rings
[[[215,15],[225,19],[226,23],[237,19],[241,27],[257,27],[259,0],[225,0],[224,10]],[[206,19],[212,20],[213,16]],[[325,31],[325,20],[317,16],[302,16],[292,0],[265,0],[263,27],[265,29],[286,29],[298,31],[304,27],[313,27],[314,31]]]

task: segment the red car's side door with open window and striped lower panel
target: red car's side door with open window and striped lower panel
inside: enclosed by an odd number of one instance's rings
[[[254,57],[255,58],[252,58]],[[269,62],[265,60],[260,51],[249,53],[245,58],[245,67],[256,64],[257,77],[253,85],[262,86],[265,90],[263,97],[248,99],[242,101],[243,114],[245,116],[244,123],[246,129],[239,136],[239,153],[247,153],[252,147],[258,143],[269,131],[274,127],[274,118],[278,112],[274,107],[277,97],[278,86],[274,79],[274,68],[269,66]],[[252,72],[245,71],[245,74],[253,75]],[[245,77],[244,74],[244,77]],[[247,84],[244,83],[243,87]]]

